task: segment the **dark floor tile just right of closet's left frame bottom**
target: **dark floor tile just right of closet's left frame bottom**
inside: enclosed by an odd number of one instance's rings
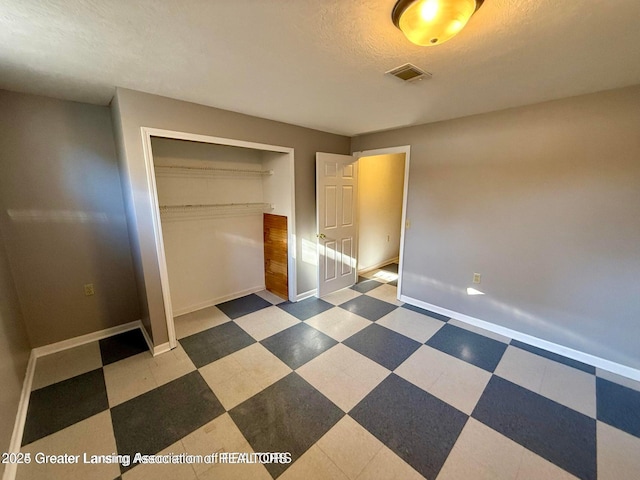
[[[233,322],[223,323],[180,340],[182,348],[197,368],[253,343],[256,343],[255,339]]]

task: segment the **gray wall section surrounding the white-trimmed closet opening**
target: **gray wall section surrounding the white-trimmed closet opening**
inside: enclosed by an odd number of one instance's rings
[[[296,237],[301,252],[303,239],[316,242],[315,153],[349,153],[350,139],[240,113],[182,102],[118,88],[112,102],[114,128],[125,182],[129,228],[137,233],[132,242],[138,285],[146,292],[143,323],[156,345],[166,343],[164,305],[154,242],[152,211],[148,196],[140,127],[211,135],[295,149]],[[297,259],[298,293],[316,288],[316,267]]]

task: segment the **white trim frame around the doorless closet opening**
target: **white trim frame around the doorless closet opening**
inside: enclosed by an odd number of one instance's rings
[[[147,173],[148,194],[151,201],[153,233],[158,257],[158,267],[160,269],[160,283],[162,287],[162,300],[167,322],[167,332],[169,335],[169,346],[175,348],[178,345],[176,339],[175,324],[173,321],[173,308],[171,305],[171,292],[169,289],[169,272],[167,270],[167,259],[164,251],[164,240],[162,237],[162,223],[160,221],[160,205],[158,203],[158,190],[156,187],[155,166],[153,162],[153,151],[151,148],[151,137],[170,138],[175,140],[189,140],[192,142],[212,143],[216,145],[227,145],[231,147],[251,148],[267,152],[284,153],[289,156],[289,168],[291,172],[291,215],[287,221],[288,228],[288,252],[287,260],[289,266],[289,299],[295,301],[297,297],[296,286],[296,235],[295,235],[295,172],[294,172],[294,149],[277,145],[267,145],[264,143],[245,142],[243,140],[233,140],[230,138],[212,137],[209,135],[199,135],[195,133],[179,132],[174,130],[162,130],[159,128],[141,127],[142,148],[144,151],[144,163]]]

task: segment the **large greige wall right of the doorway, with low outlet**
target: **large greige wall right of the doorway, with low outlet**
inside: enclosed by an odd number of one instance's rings
[[[635,86],[352,150],[411,145],[404,295],[640,368],[639,132]]]

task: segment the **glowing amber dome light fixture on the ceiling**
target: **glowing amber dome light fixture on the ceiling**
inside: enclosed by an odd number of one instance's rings
[[[457,35],[484,0],[399,0],[391,18],[410,42],[440,45]]]

